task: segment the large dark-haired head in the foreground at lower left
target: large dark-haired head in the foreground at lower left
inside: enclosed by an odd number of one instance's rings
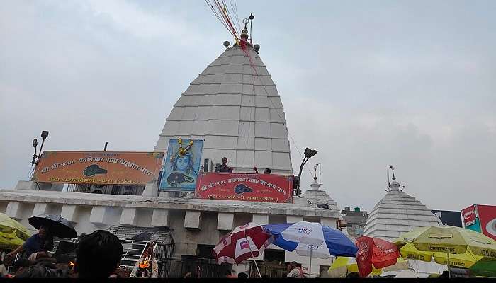
[[[118,267],[123,245],[113,233],[96,230],[82,236],[76,246],[76,267],[79,278],[108,278]]]

